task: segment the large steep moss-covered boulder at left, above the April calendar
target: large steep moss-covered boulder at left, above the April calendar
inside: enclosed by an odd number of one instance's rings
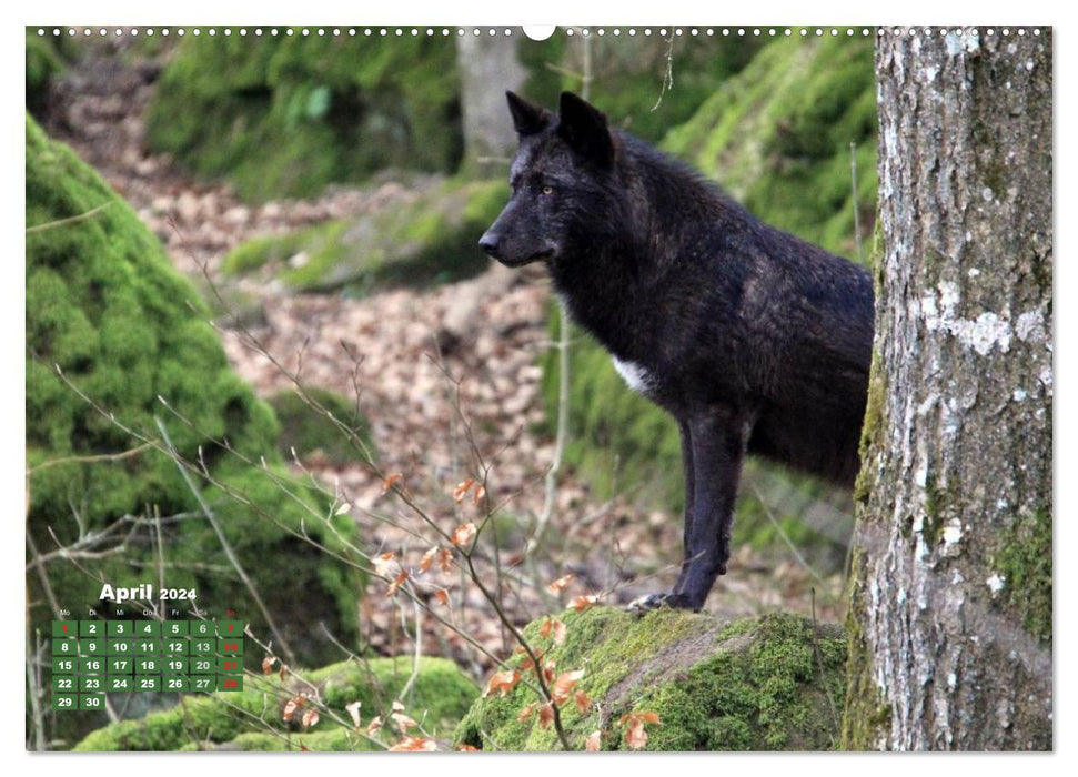
[[[194,588],[211,616],[234,609],[260,637],[271,613],[303,660],[339,656],[320,624],[357,633],[351,519],[289,483],[273,411],[134,212],[29,117],[26,132],[27,525],[49,557],[28,575],[32,623],[48,634],[50,602],[108,614],[103,582],[163,583]],[[72,563],[58,543],[88,553]]]

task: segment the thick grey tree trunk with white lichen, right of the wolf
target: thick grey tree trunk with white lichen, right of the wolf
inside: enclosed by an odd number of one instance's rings
[[[844,744],[1050,749],[1051,30],[890,30]]]

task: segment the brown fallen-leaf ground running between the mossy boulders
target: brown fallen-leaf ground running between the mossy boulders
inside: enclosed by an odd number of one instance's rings
[[[102,46],[57,83],[46,124],[138,211],[174,265],[203,289],[209,285],[203,275],[229,285],[218,274],[220,262],[244,241],[393,208],[431,183],[384,174],[369,185],[335,188],[313,200],[245,204],[226,185],[192,180],[168,157],[145,148],[142,114],[155,72],[154,63]],[[230,327],[225,319],[218,323],[232,365],[263,397],[294,385],[276,364],[288,371],[302,365],[304,386],[350,398],[359,389],[381,471],[400,473],[399,483],[443,531],[481,517],[471,500],[456,504],[451,494],[461,481],[482,477],[482,460],[487,495],[501,505],[503,517],[493,524],[500,534],[497,558],[480,557],[477,566],[492,588],[501,584],[515,624],[556,614],[581,594],[606,592],[603,603],[624,604],[667,588],[681,561],[682,517],[646,506],[645,495],[634,494],[631,484],[605,501],[573,472],[560,472],[546,539],[525,557],[526,537],[544,509],[544,477],[554,454],[554,440],[544,431],[537,366],[550,347],[548,286],[542,273],[526,273],[507,293],[483,303],[473,343],[442,355],[435,335],[454,291],[444,285],[345,299],[286,295],[272,284],[249,284],[243,292],[259,299],[258,322],[249,330]],[[251,346],[252,336],[258,347]],[[424,538],[432,536],[430,528],[404,504],[384,496],[382,477],[366,466],[333,463],[318,452],[293,466],[312,473],[351,505],[370,556],[393,552],[414,567],[431,546]],[[497,581],[496,567],[503,571]],[[568,573],[575,579],[558,601],[545,586]],[[435,579],[449,589],[453,608],[446,617],[459,630],[491,655],[506,656],[513,644],[475,586],[462,588],[460,577]],[[412,653],[414,644],[402,627],[414,617],[412,607],[401,595],[385,596],[385,587],[377,578],[370,584],[362,605],[363,637],[386,655]],[[433,601],[434,586],[420,591]],[[735,548],[706,608],[724,617],[782,608],[834,622],[843,613],[842,579],[816,581],[792,554],[765,555],[743,546]],[[423,633],[426,653],[451,656],[476,674],[493,666],[490,655],[430,616]]]

